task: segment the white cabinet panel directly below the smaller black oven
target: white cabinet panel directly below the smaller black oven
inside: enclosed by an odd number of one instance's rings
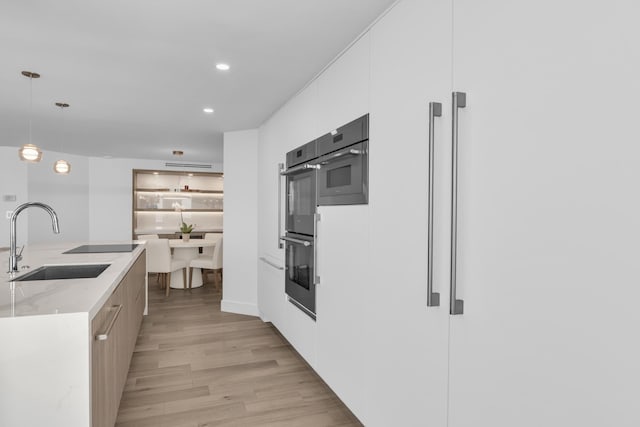
[[[318,212],[315,369],[354,413],[363,414],[365,360],[370,357],[365,346],[370,322],[365,304],[370,287],[369,209],[321,206]]]

